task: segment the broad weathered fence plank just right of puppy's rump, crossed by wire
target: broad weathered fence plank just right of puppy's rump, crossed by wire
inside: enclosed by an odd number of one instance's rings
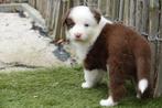
[[[158,0],[150,0],[150,15],[149,15],[149,34],[150,36],[155,36],[159,30],[159,6],[156,4]],[[156,20],[154,20],[156,19]],[[158,43],[152,43],[152,71],[151,76],[152,77],[152,84],[153,88],[155,89],[155,83],[156,83],[156,75],[158,75],[158,65],[159,65],[159,58],[158,58]]]

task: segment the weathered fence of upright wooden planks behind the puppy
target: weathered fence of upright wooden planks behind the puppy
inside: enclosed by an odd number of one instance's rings
[[[26,0],[0,0],[26,2]],[[154,96],[162,95],[162,0],[28,0],[45,19],[54,40],[65,37],[62,17],[74,6],[96,8],[112,20],[121,21],[141,33],[149,34],[152,46],[152,82]],[[161,83],[161,84],[160,84]]]

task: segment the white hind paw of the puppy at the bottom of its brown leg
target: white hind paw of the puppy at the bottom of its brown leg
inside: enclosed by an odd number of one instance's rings
[[[111,107],[111,106],[116,106],[116,105],[117,105],[117,102],[114,101],[112,96],[109,96],[108,99],[100,100],[100,106]]]

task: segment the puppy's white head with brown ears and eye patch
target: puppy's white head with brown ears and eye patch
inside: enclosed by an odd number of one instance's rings
[[[98,11],[79,6],[71,9],[63,19],[66,36],[74,42],[88,42],[96,33],[101,15]]]

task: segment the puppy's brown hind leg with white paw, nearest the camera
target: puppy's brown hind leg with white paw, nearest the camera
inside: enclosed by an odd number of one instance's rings
[[[123,97],[125,77],[122,73],[122,63],[117,57],[109,58],[109,97],[100,100],[101,106],[115,106]]]

